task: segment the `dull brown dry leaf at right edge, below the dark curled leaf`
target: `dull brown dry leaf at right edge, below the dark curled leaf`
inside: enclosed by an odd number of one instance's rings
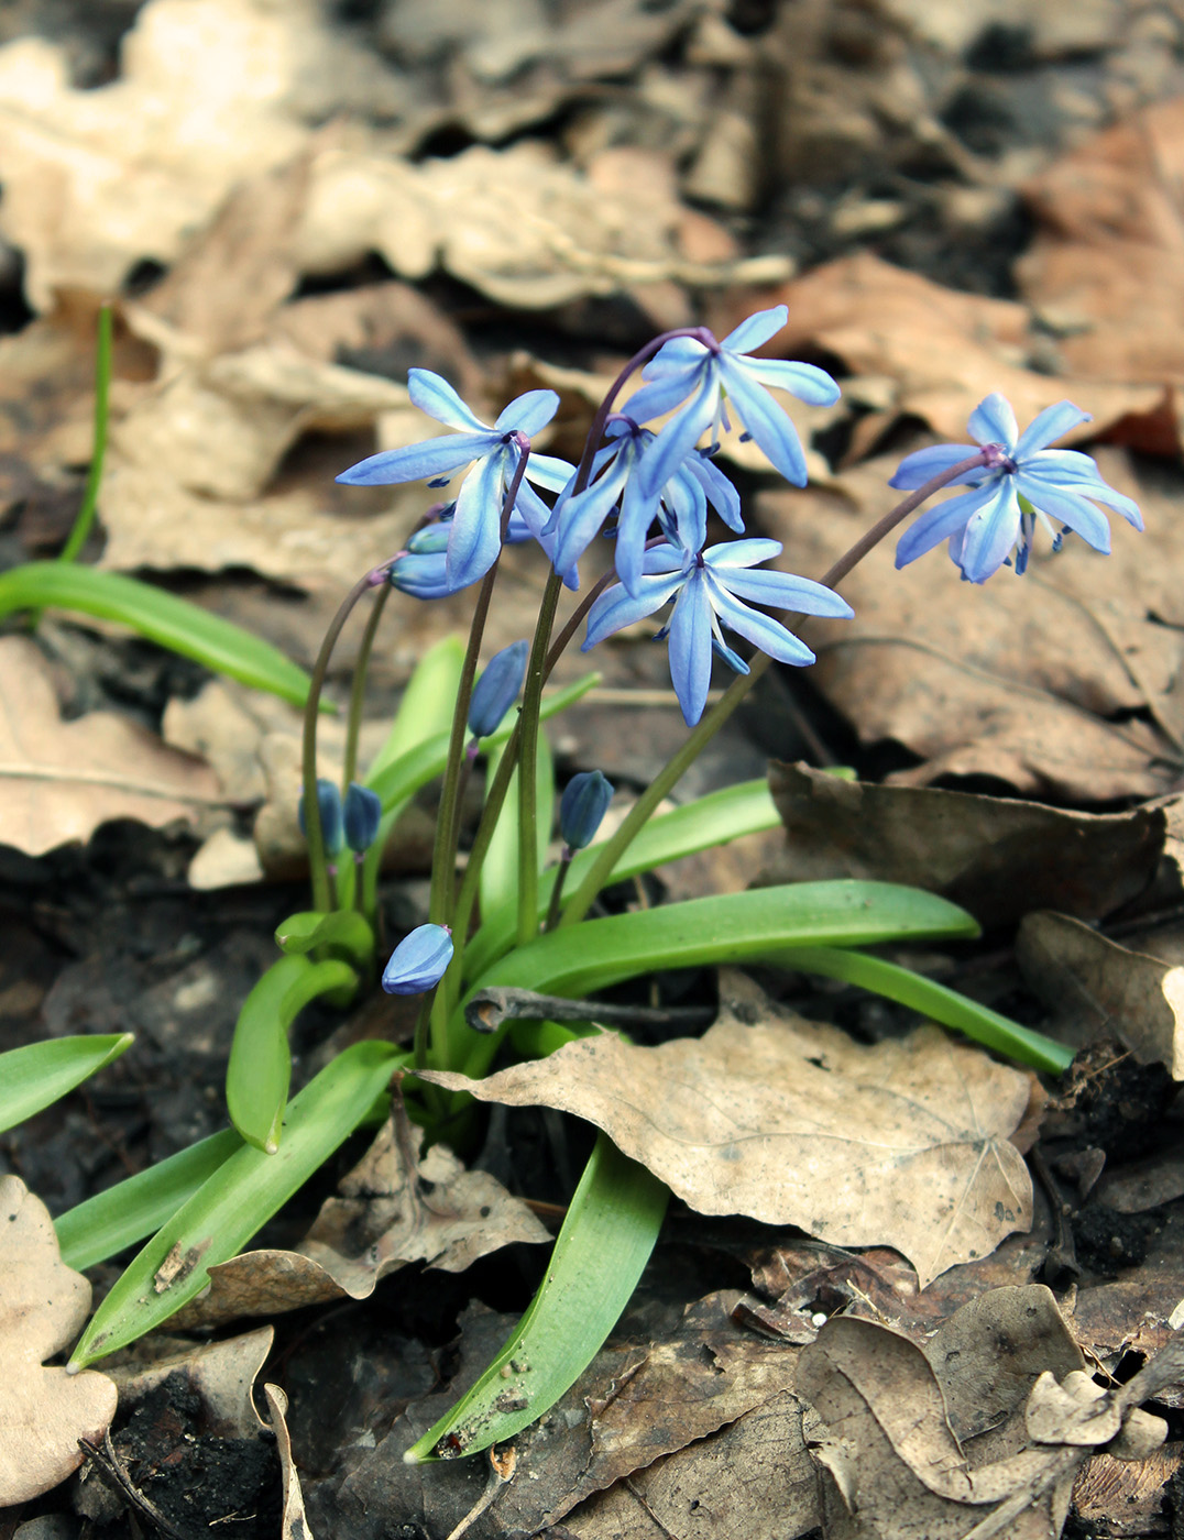
[[[1132,952],[1067,915],[1028,915],[1016,956],[1073,1041],[1118,1036],[1141,1064],[1184,1080],[1184,967]]]

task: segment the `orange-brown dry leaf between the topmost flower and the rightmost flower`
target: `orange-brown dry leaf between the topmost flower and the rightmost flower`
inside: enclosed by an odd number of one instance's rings
[[[918,416],[956,444],[965,440],[970,413],[995,390],[1007,396],[1021,422],[1070,396],[1093,413],[1093,433],[1105,433],[1129,416],[1149,416],[1164,397],[1155,385],[1053,379],[1025,368],[1030,334],[1024,305],[944,288],[871,253],[828,262],[761,302],[784,303],[790,314],[785,330],[759,351],[801,357],[822,348],[853,374],[895,380],[891,414]],[[730,296],[716,328],[734,326],[754,308],[751,296]],[[865,453],[890,420],[881,413],[861,427],[856,451]]]

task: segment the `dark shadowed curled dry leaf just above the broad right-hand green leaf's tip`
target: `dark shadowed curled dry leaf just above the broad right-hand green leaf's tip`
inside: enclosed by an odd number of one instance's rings
[[[1015,924],[1032,909],[1099,919],[1147,887],[1166,833],[1159,808],[1073,813],[776,761],[770,790],[788,836],[770,882],[905,882],[961,904],[982,926]]]

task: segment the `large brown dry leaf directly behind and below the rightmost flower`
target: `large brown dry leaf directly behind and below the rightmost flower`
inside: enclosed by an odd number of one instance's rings
[[[891,508],[893,470],[882,460],[844,473],[842,496],[768,493],[758,522],[784,541],[787,565],[818,576]],[[942,551],[898,573],[887,541],[842,584],[855,619],[804,628],[819,658],[811,682],[861,739],[895,739],[924,761],[893,782],[985,775],[1087,802],[1175,784],[1179,496],[1135,484],[1119,456],[1104,473],[1147,504],[1147,534],[1116,521],[1115,554],[1038,545],[1025,578],[1001,571],[979,587],[959,582]]]

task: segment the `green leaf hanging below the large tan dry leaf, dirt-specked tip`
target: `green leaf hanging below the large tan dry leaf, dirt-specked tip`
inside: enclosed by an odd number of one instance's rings
[[[600,1133],[527,1314],[473,1389],[403,1460],[477,1454],[554,1406],[628,1304],[668,1197],[656,1177]]]

